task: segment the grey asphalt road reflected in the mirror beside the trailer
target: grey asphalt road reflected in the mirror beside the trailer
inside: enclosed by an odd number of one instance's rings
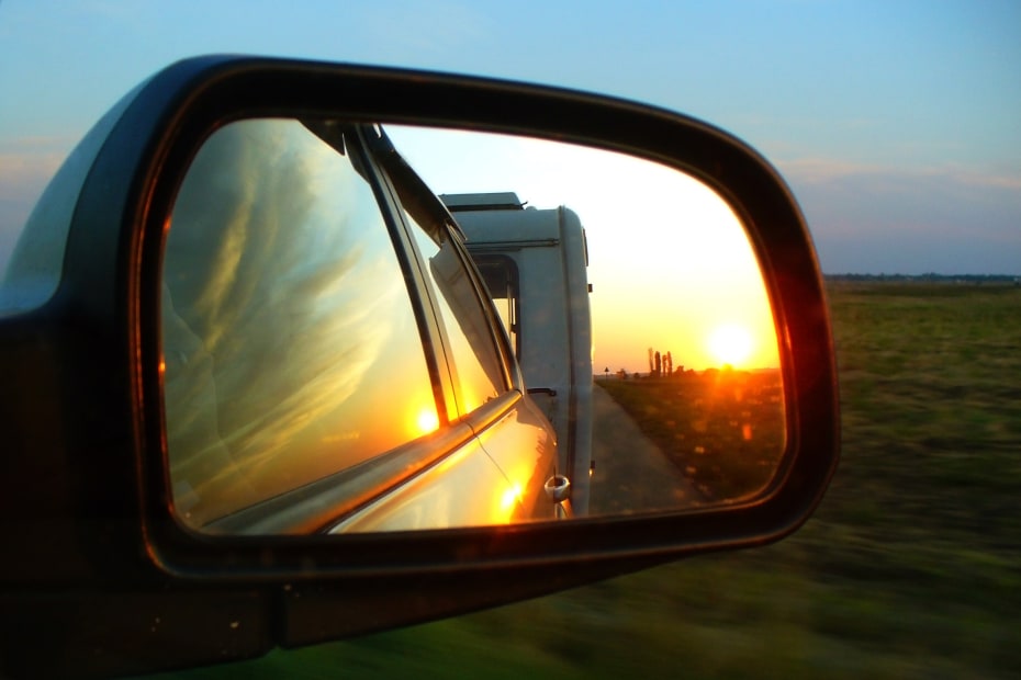
[[[638,424],[598,386],[592,390],[592,514],[620,514],[699,505],[695,490]]]

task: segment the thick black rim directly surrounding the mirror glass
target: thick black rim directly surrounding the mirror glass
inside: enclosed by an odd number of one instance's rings
[[[158,113],[158,115],[154,115]],[[170,207],[199,146],[228,122],[332,116],[383,124],[527,135],[638,156],[693,175],[744,224],[773,306],[787,409],[786,464],[749,502],[570,523],[517,524],[368,535],[199,536],[169,513],[161,410],[159,277]],[[120,131],[145,131],[145,152]],[[124,147],[124,148],[119,148]],[[122,238],[134,275],[125,329],[146,551],[166,573],[202,580],[408,574],[484,565],[580,565],[593,559],[666,560],[761,544],[794,531],[833,473],[838,401],[830,326],[815,251],[778,174],[758,154],[705,123],[626,101],[496,80],[420,71],[259,58],[179,63],[142,87],[104,158],[131,158],[133,186]],[[232,569],[223,569],[231,564]],[[314,568],[310,570],[310,565]]]

